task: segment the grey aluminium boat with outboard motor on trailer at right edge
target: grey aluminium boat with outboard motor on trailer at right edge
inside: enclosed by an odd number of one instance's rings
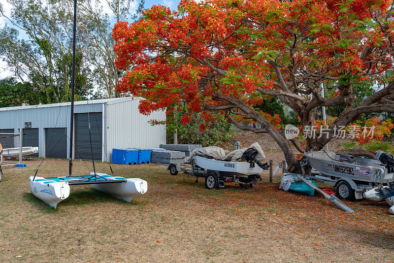
[[[394,213],[394,158],[376,151],[374,158],[336,154],[334,152],[305,152],[307,163],[321,174],[309,177],[336,186],[338,197],[344,199],[386,200]],[[301,167],[307,163],[302,164]]]

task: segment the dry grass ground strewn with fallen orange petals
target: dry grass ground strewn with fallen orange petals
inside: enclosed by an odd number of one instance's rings
[[[266,150],[275,162],[281,154]],[[263,182],[206,190],[195,178],[156,164],[113,164],[148,181],[131,203],[90,186],[73,186],[52,209],[30,193],[26,168],[5,167],[0,182],[0,261],[5,262],[393,262],[394,216],[385,202],[345,202],[346,214],[321,197]],[[45,160],[40,176],[66,175],[66,160]],[[86,163],[89,167],[91,164]],[[108,164],[97,170],[110,173]],[[75,162],[75,174],[86,172]]]

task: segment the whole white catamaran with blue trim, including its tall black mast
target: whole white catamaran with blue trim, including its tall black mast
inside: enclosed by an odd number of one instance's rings
[[[76,46],[76,14],[77,2],[74,0],[74,21],[73,21],[73,40],[72,40],[72,76],[71,76],[71,112],[70,112],[70,148],[69,148],[69,166],[68,176],[63,177],[39,177],[37,176],[38,168],[34,176],[30,176],[30,190],[35,197],[43,200],[53,208],[66,199],[70,194],[70,186],[90,184],[94,189],[116,197],[120,200],[130,202],[133,197],[142,195],[147,191],[147,182],[139,178],[124,178],[115,176],[110,166],[113,176],[105,173],[97,173],[94,163],[92,136],[90,118],[89,138],[92,153],[93,170],[90,175],[74,176],[72,175],[72,155],[73,155],[73,130],[74,130],[74,88],[75,88],[75,46]],[[88,112],[89,116],[89,112]]]

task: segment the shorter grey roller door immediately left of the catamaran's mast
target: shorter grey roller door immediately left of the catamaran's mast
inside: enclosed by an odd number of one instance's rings
[[[45,129],[45,157],[67,159],[67,129]]]

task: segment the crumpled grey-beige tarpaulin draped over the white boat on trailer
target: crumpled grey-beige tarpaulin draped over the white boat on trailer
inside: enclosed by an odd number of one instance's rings
[[[223,150],[220,147],[217,146],[208,146],[208,147],[202,147],[198,148],[193,151],[193,155],[198,155],[201,157],[208,157],[211,156],[215,158],[216,160],[223,160],[223,161],[229,161],[229,162],[241,162],[241,160],[236,160],[240,158],[243,154],[244,151],[246,151],[249,148],[256,149],[258,154],[256,155],[256,159],[258,161],[265,161],[265,154],[263,152],[262,147],[258,142],[253,143],[250,147],[247,148],[242,148],[238,150],[234,150],[232,152],[229,152],[227,150]]]

